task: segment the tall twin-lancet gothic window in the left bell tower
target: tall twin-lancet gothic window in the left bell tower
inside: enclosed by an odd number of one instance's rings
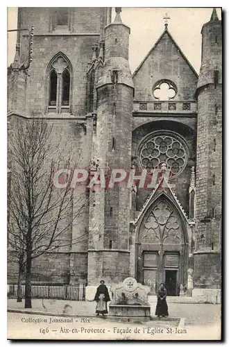
[[[51,60],[47,70],[47,78],[49,78],[47,111],[70,112],[72,67],[64,54],[59,53]]]

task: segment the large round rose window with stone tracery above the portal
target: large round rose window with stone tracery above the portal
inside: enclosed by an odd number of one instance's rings
[[[161,169],[167,164],[173,176],[180,174],[187,163],[187,150],[184,144],[172,135],[155,135],[144,142],[140,151],[142,169]]]

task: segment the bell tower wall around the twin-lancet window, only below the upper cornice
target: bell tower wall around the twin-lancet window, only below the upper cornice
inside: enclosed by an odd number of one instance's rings
[[[31,63],[30,78],[27,83],[27,112],[43,114],[48,105],[48,81],[46,69],[49,61],[59,51],[69,58],[73,74],[72,83],[72,115],[86,114],[87,100],[87,64],[92,56],[92,44],[97,36],[36,36],[33,43],[33,62]],[[55,113],[52,113],[52,116]],[[59,117],[59,116],[58,116]]]

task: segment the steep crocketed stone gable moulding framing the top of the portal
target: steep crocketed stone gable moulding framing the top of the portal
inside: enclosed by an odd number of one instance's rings
[[[139,221],[139,218],[142,216],[142,214],[144,214],[144,212],[147,210],[147,208],[149,207],[149,205],[151,205],[151,203],[153,202],[153,196],[155,195],[155,193],[158,191],[159,187],[162,186],[162,182],[164,181],[165,185],[167,186],[167,188],[169,189],[169,192],[171,193],[171,195],[173,196],[175,202],[176,202],[176,207],[178,208],[178,210],[180,211],[180,213],[183,215],[183,217],[185,218],[185,221],[189,224],[190,221],[187,217],[187,214],[185,213],[185,210],[183,209],[180,201],[178,200],[176,194],[173,192],[173,190],[171,189],[169,183],[167,183],[167,180],[164,180],[164,176],[162,176],[162,179],[160,180],[160,182],[158,183],[157,187],[155,187],[155,189],[153,189],[153,192],[150,194],[149,198],[146,199],[146,202],[143,205],[142,210],[139,212],[137,218],[134,221],[134,224],[136,224]]]

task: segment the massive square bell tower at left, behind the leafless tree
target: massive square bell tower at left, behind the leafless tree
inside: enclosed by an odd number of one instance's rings
[[[90,19],[90,20],[89,20]],[[18,29],[34,26],[33,61],[28,63],[28,31],[19,31],[15,61],[8,69],[8,120],[45,118],[53,136],[62,137],[65,149],[82,152],[78,166],[91,160],[90,117],[86,117],[87,69],[110,23],[111,8],[19,8]],[[66,145],[67,144],[67,145]],[[85,203],[81,185],[74,190],[72,213]],[[88,230],[88,210],[74,219],[66,237],[82,238]],[[59,253],[50,252],[33,262],[32,280],[86,282],[88,242],[70,241]],[[71,243],[71,244],[70,244]],[[44,271],[46,269],[46,271]],[[17,281],[17,264],[9,262],[9,280]]]

